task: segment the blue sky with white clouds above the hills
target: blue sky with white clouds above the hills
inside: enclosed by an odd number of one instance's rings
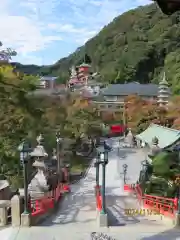
[[[0,41],[13,61],[50,65],[121,13],[149,0],[0,0]]]

